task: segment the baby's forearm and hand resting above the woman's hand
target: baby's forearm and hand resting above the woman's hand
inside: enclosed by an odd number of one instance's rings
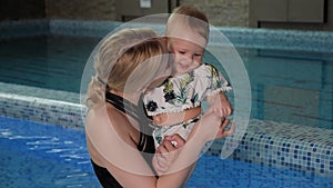
[[[206,100],[210,105],[208,112],[215,112],[219,117],[228,117],[233,109],[224,92],[219,92],[213,96],[208,96]]]

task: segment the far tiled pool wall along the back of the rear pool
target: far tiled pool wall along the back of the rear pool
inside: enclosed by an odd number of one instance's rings
[[[0,22],[0,39],[50,33],[104,37],[114,28],[121,24],[123,23],[114,21],[84,21],[57,19],[2,21]],[[151,23],[131,23],[131,27],[135,26],[153,27],[161,34],[163,33],[165,27],[162,24]],[[330,31],[299,31],[282,29],[272,30],[226,27],[212,27],[212,31],[221,31],[234,46],[238,47],[333,52],[333,32]],[[213,36],[211,36],[210,38],[210,43],[214,43],[215,41],[215,32],[212,33]]]

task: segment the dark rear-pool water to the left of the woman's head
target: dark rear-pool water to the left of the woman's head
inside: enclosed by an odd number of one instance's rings
[[[65,36],[0,40],[0,81],[80,92],[82,70],[99,40]]]

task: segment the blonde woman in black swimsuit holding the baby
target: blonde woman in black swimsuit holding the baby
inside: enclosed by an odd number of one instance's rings
[[[201,133],[193,131],[185,147],[178,135],[168,137],[158,150],[160,161],[171,162],[158,177],[151,166],[155,150],[141,95],[169,75],[167,49],[151,29],[123,29],[103,40],[94,61],[97,75],[89,85],[85,131],[91,161],[103,187],[182,187],[204,144],[231,133],[224,131],[229,121],[220,126],[220,118],[210,113],[194,128]],[[203,131],[201,121],[210,128]]]

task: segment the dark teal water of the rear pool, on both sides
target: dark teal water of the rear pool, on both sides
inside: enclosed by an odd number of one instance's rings
[[[2,39],[0,82],[79,93],[82,70],[100,39],[80,36]],[[333,129],[333,52],[238,46],[236,50],[251,83],[251,118]],[[205,59],[214,62],[210,56]],[[24,89],[22,95],[37,92]],[[42,92],[38,97],[54,98],[54,95]],[[233,101],[232,92],[229,98]]]

